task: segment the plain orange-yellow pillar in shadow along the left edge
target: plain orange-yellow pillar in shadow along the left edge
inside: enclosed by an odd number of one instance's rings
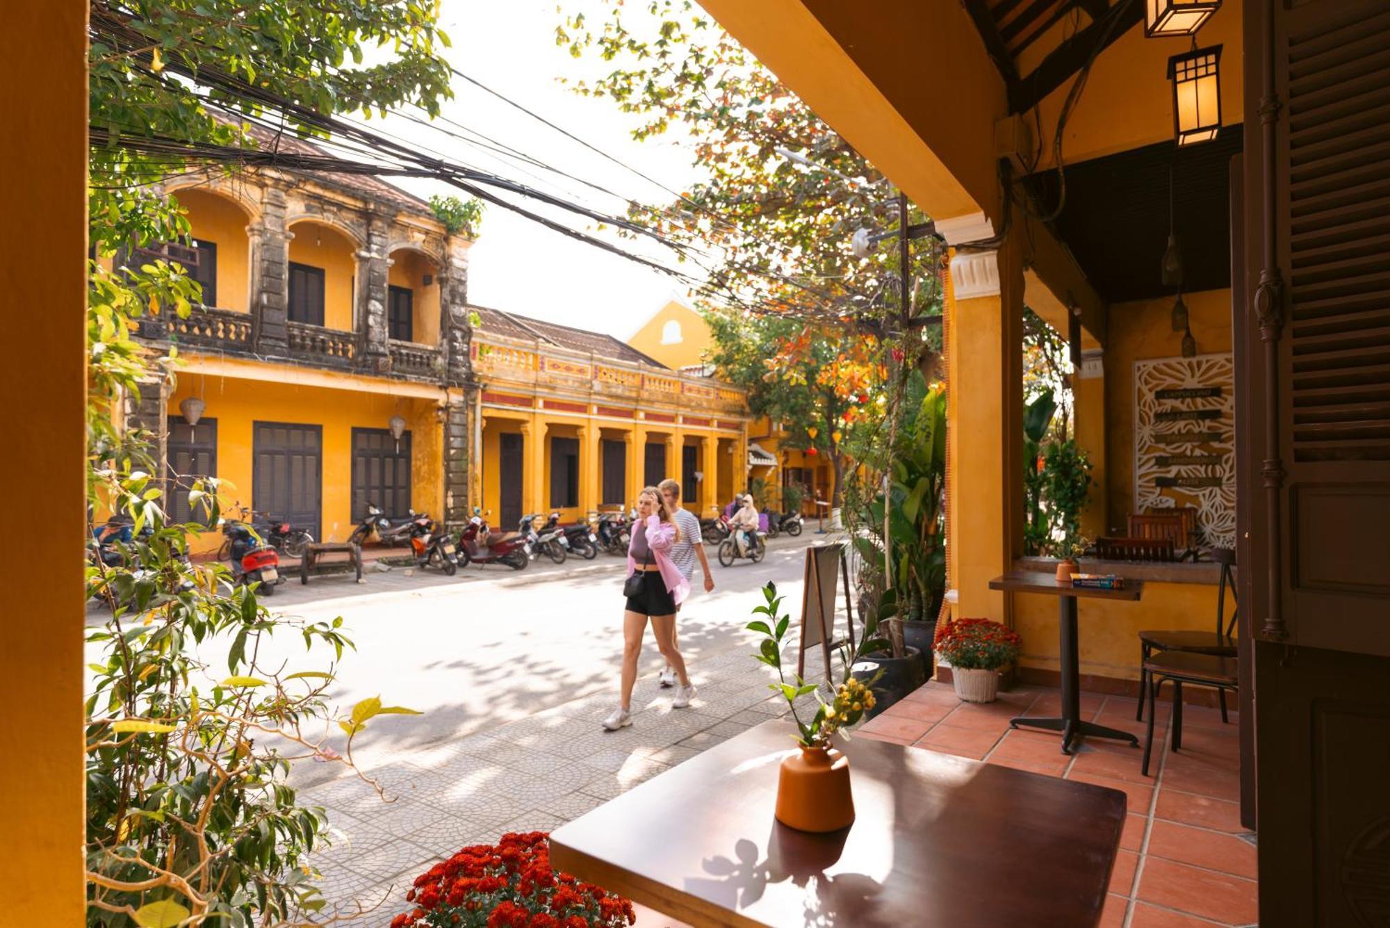
[[[7,617],[0,625],[0,900],[7,925],[81,925],[83,879],[82,545],[86,306],[86,18],[76,0],[6,7],[0,74],[42,93],[7,93],[0,125],[15,139],[0,171],[11,219],[0,226],[0,281],[8,306],[26,314],[25,338],[39,350],[11,351],[0,367],[10,451],[0,478],[7,511],[43,525],[57,557],[22,557],[11,540],[0,567]],[[22,178],[22,182],[19,181]],[[21,218],[22,217],[22,218]],[[43,268],[33,245],[43,243]],[[43,700],[36,709],[36,696]]]

